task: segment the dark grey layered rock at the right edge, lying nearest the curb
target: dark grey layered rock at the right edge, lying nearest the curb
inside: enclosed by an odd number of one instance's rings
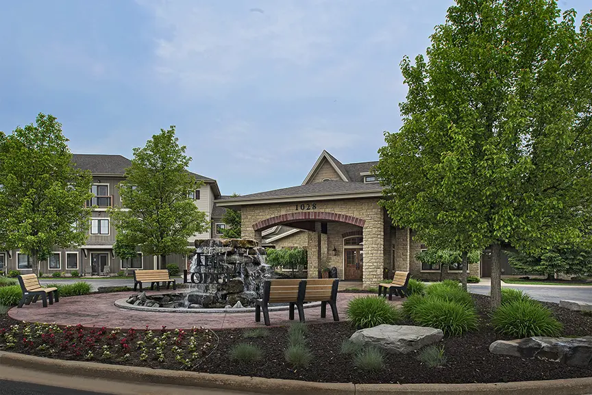
[[[489,352],[522,358],[549,359],[567,366],[592,368],[592,336],[497,340],[491,343]]]

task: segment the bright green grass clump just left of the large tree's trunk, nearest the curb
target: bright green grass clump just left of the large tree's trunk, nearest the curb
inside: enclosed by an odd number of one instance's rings
[[[412,319],[421,327],[442,329],[445,335],[458,336],[477,329],[477,313],[473,307],[433,296],[417,305]]]

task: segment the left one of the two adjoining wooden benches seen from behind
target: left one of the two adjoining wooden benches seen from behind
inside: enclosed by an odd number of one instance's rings
[[[255,322],[261,321],[261,311],[267,326],[269,322],[269,303],[290,303],[290,319],[294,319],[294,307],[298,307],[298,318],[304,322],[304,287],[301,280],[267,280],[263,283],[263,298],[255,301]]]

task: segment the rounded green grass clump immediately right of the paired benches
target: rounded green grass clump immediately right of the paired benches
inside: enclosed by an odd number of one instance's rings
[[[371,328],[380,324],[396,324],[400,321],[399,311],[384,298],[366,296],[354,298],[347,303],[349,322],[357,328]]]

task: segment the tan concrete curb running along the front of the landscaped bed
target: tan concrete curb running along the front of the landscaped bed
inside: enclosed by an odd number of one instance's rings
[[[249,391],[258,394],[331,394],[331,395],[585,395],[592,394],[592,377],[547,381],[521,381],[487,384],[355,384],[313,383],[310,381],[263,379],[177,370],[158,370],[136,366],[65,361],[0,351],[0,366],[14,366],[55,374],[93,377],[128,383],[155,383],[218,390]]]

